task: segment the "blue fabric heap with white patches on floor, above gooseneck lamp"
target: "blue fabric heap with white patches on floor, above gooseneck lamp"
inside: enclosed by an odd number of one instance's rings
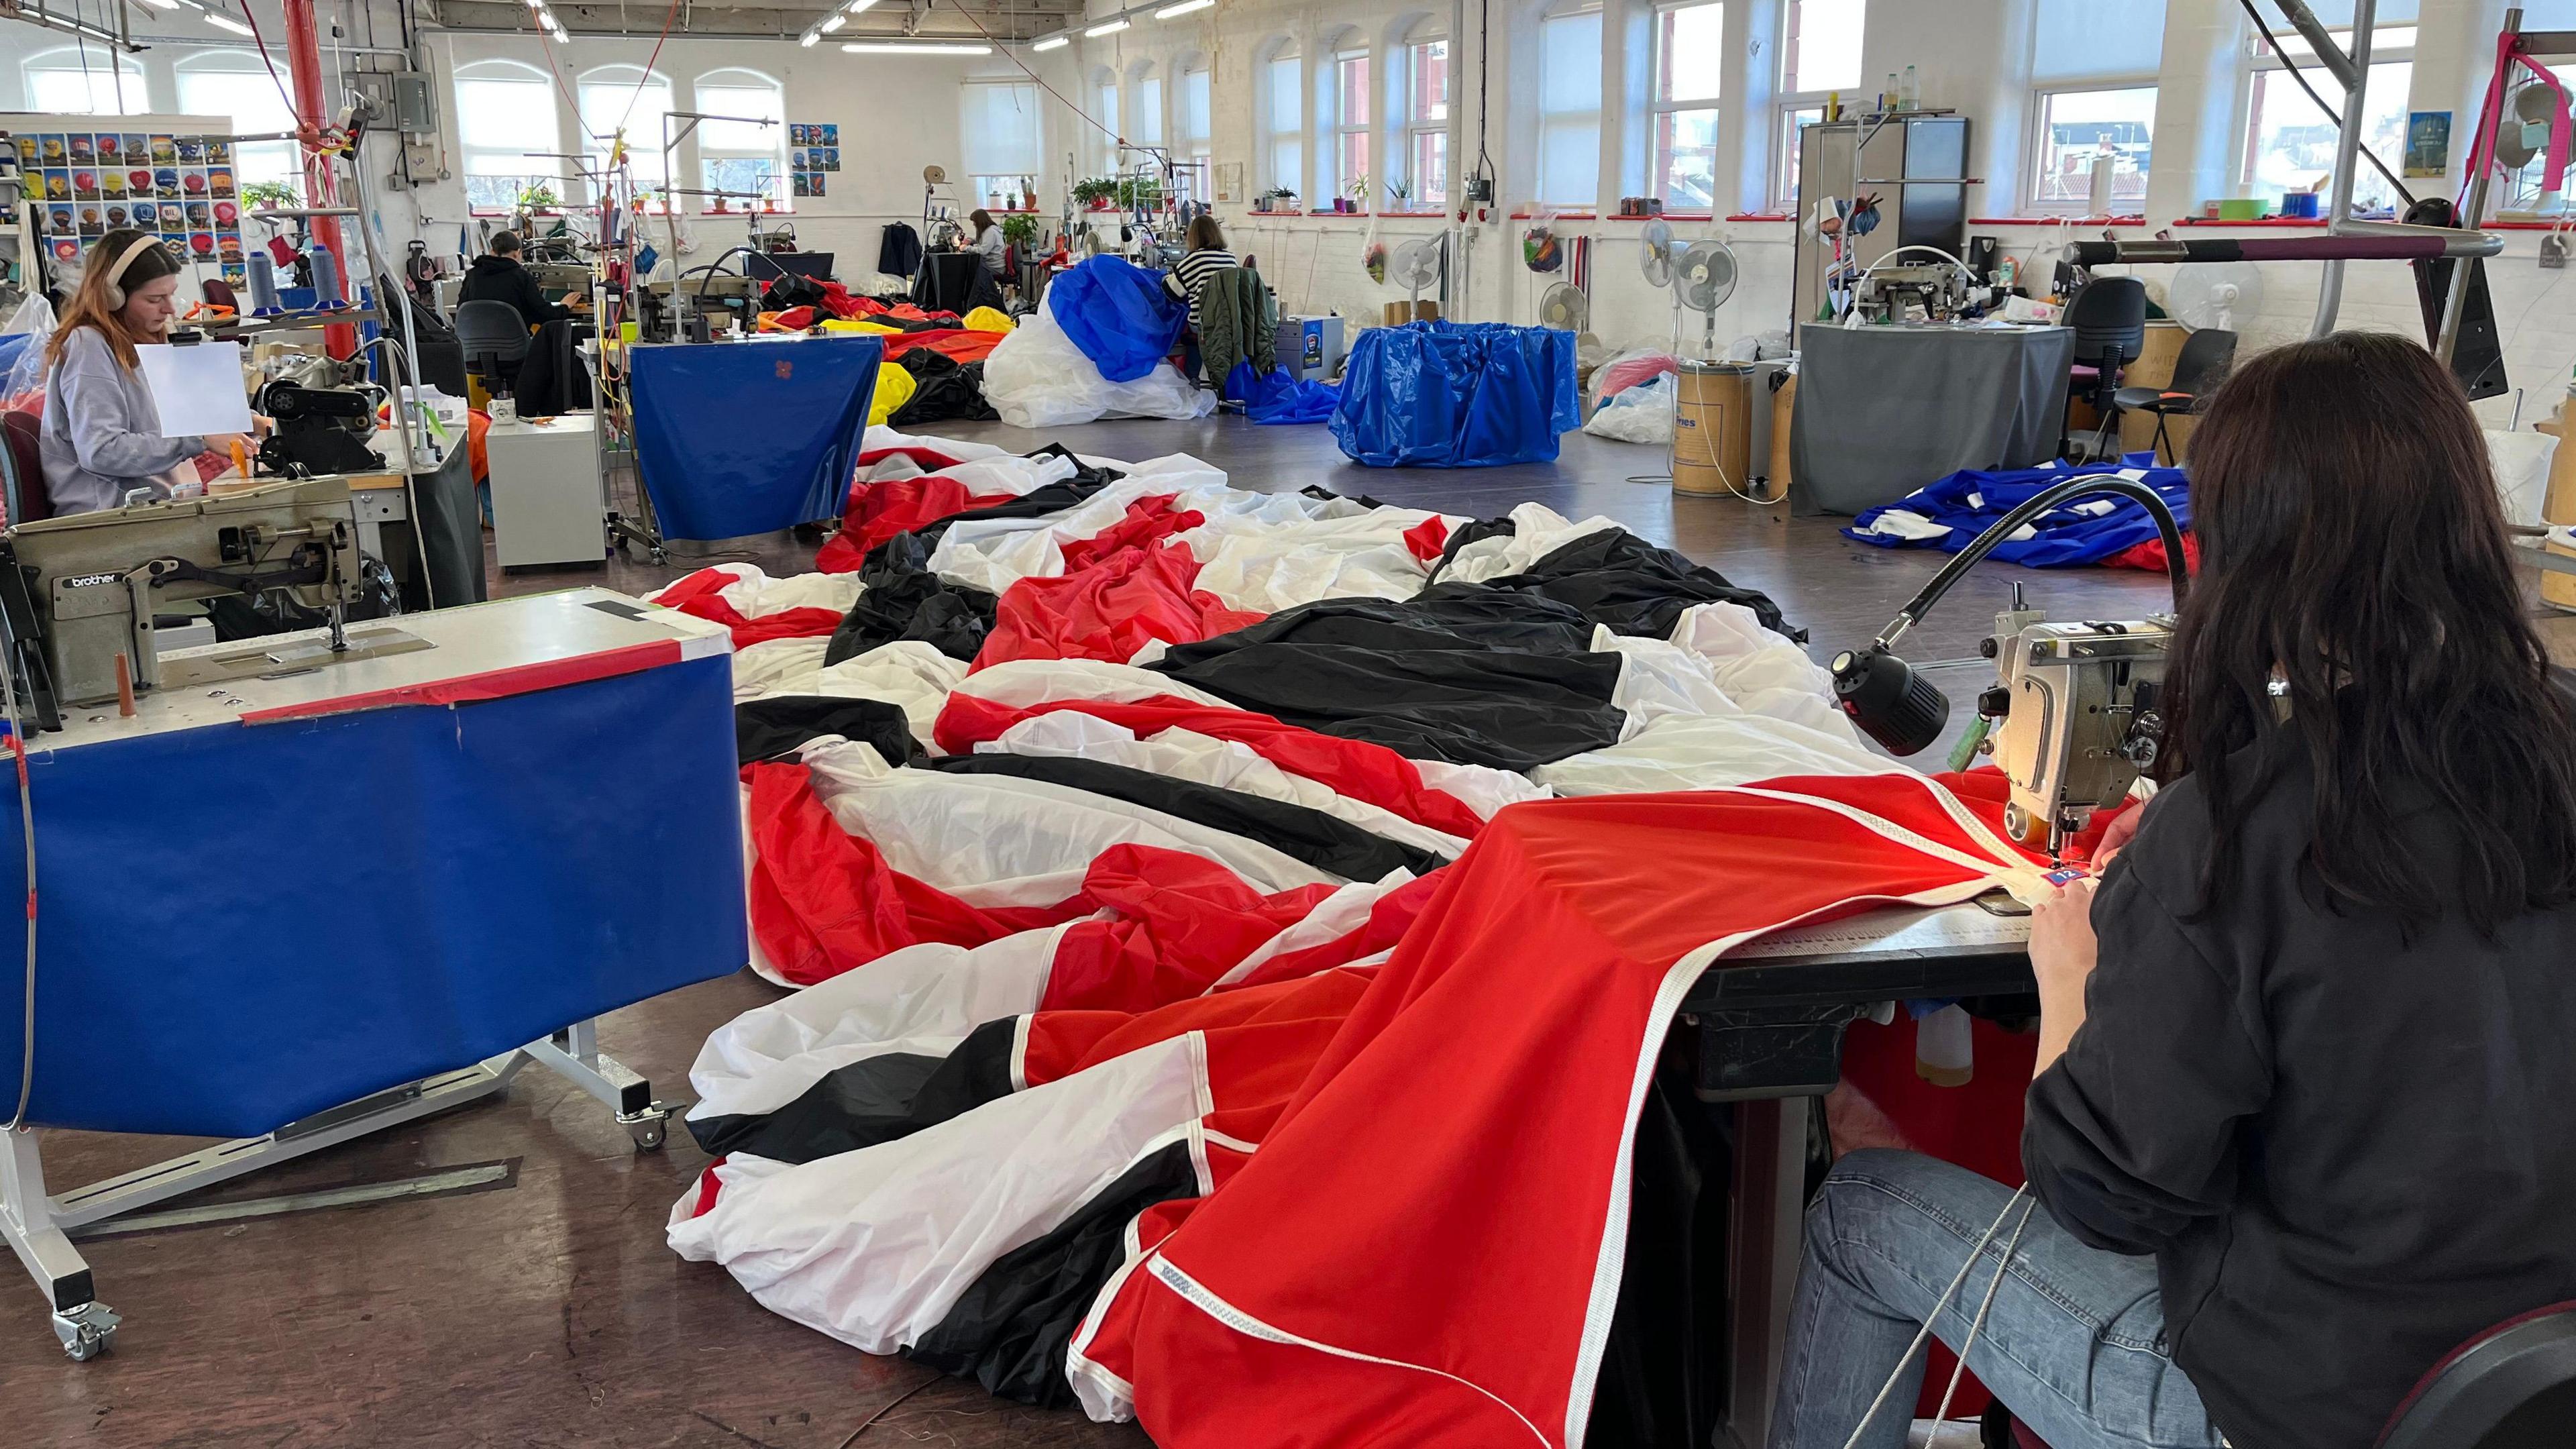
[[[2192,490],[2179,467],[2154,467],[2156,454],[2130,454],[2117,464],[2053,464],[2004,472],[1963,469],[1914,490],[1896,503],[1870,508],[1852,518],[1844,539],[1875,544],[1880,549],[1940,549],[1955,554],[1976,541],[1996,518],[2012,513],[2032,492],[2084,474],[2123,474],[2156,490],[2174,511],[2182,529],[2192,526]],[[1924,536],[1911,518],[1880,523],[1888,513],[1911,513],[1932,526],[1947,529]],[[2030,521],[2020,539],[1994,547],[1989,559],[2022,567],[2081,567],[2097,565],[2123,549],[2133,549],[2156,536],[2156,518],[2143,503],[2115,495],[2076,498],[2063,508],[2050,508]]]

